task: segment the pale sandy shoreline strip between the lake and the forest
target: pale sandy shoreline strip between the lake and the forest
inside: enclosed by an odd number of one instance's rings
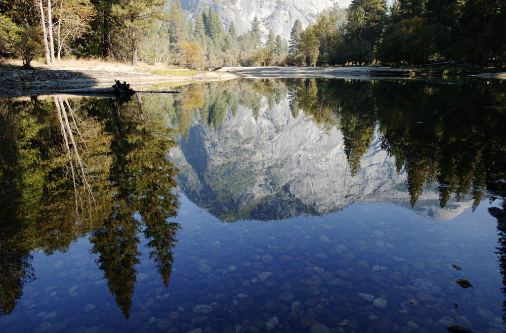
[[[150,72],[151,71],[151,72]],[[156,72],[152,73],[152,72]],[[169,75],[158,73],[170,72]],[[224,81],[237,78],[344,78],[344,79],[407,79],[415,76],[412,69],[394,67],[223,67],[217,71],[200,71],[178,75],[185,70],[138,68],[128,65],[81,64],[37,66],[33,70],[0,67],[0,97],[45,95],[44,91],[94,89],[111,87],[114,80],[128,82],[134,90],[156,84],[189,84]],[[187,70],[186,73],[189,71]],[[506,79],[506,73],[469,75]]]

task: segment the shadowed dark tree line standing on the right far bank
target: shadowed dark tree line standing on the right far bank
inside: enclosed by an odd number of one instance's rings
[[[395,66],[444,61],[500,67],[506,61],[506,3],[500,0],[353,0],[290,34],[294,65]]]

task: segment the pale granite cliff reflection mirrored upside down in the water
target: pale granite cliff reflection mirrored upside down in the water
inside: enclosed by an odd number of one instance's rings
[[[188,141],[171,149],[188,198],[223,221],[323,215],[355,202],[383,201],[442,221],[472,205],[452,198],[441,209],[432,187],[424,188],[412,209],[407,176],[404,170],[397,174],[377,131],[352,177],[341,132],[334,127],[326,133],[303,113],[294,118],[288,103],[284,99],[269,109],[262,101],[258,120],[239,106],[218,132],[195,123]]]

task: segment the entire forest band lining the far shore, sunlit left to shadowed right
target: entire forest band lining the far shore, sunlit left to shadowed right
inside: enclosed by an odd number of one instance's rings
[[[353,0],[318,14],[289,40],[264,36],[255,17],[238,35],[212,7],[180,0],[0,0],[0,59],[103,58],[131,63],[216,66],[424,66],[457,62],[502,67],[506,3],[501,0]],[[1,62],[0,62],[1,64]]]

